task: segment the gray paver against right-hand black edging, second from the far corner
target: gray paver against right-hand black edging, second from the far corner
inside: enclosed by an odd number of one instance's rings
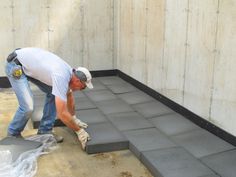
[[[137,90],[136,87],[132,86],[129,83],[124,83],[124,84],[119,84],[119,85],[107,85],[107,87],[111,89],[113,93],[116,93],[116,94],[127,93],[127,92],[132,92],[132,91]]]

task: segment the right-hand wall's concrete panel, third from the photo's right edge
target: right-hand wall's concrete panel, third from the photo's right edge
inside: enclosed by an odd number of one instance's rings
[[[162,94],[182,104],[188,0],[166,0]]]

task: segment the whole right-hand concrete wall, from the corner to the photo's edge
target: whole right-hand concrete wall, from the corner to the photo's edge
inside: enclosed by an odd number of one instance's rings
[[[236,135],[236,1],[115,1],[117,68]]]

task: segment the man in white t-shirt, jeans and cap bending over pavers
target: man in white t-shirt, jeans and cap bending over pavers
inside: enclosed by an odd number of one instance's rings
[[[87,124],[75,116],[73,91],[93,88],[92,76],[83,67],[73,69],[53,53],[39,48],[16,49],[7,58],[6,74],[17,96],[19,107],[8,127],[8,136],[21,137],[21,132],[33,112],[33,95],[28,81],[46,93],[43,117],[38,134],[53,134],[57,116],[74,130],[85,149],[89,134]],[[63,137],[53,134],[57,142]]]

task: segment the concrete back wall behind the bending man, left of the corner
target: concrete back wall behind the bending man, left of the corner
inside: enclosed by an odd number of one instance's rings
[[[113,0],[0,0],[0,76],[18,47],[40,47],[76,67],[111,69]]]

